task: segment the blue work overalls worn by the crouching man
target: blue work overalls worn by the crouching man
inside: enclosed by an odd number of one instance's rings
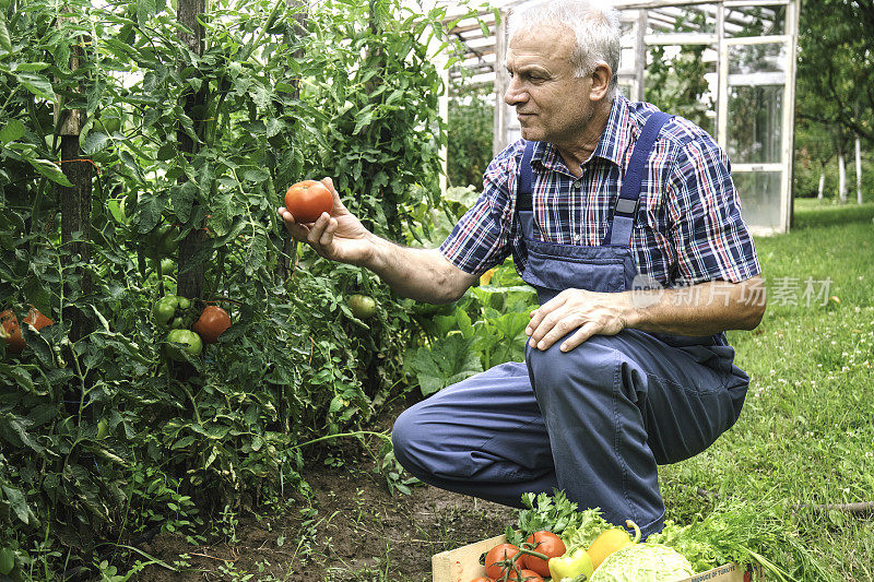
[[[528,265],[522,278],[541,304],[567,288],[630,290],[630,249],[640,181],[662,126],[647,120],[601,246],[534,238],[533,142],[522,157],[517,210]],[[571,332],[572,333],[572,332]],[[570,352],[562,341],[525,347],[507,363],[404,411],[392,440],[400,463],[425,483],[512,507],[523,492],[562,488],[580,509],[601,508],[643,536],[662,528],[658,464],[688,459],[737,419],[748,385],[724,333],[684,337],[626,329]]]

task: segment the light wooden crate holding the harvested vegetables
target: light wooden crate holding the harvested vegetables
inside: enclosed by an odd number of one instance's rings
[[[505,542],[507,538],[499,535],[435,554],[430,558],[434,582],[471,582],[474,578],[485,575],[485,568],[480,563],[480,559],[483,554]],[[764,573],[758,566],[743,567],[737,563],[727,563],[676,582],[760,582],[764,580]]]

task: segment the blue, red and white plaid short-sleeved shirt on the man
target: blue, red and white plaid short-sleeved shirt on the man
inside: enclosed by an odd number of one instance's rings
[[[616,96],[580,178],[552,144],[536,144],[531,161],[535,238],[602,244],[634,144],[653,110],[650,104]],[[466,273],[481,274],[510,253],[517,270],[525,269],[528,257],[515,219],[524,143],[519,140],[492,161],[482,195],[440,246],[449,262]],[[638,272],[665,287],[712,280],[736,283],[761,272],[728,156],[706,131],[682,117],[665,124],[647,162],[631,250]]]

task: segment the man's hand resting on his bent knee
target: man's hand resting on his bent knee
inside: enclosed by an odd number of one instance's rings
[[[627,326],[631,309],[625,294],[565,289],[531,312],[525,334],[531,336],[531,347],[547,349],[577,330],[559,346],[562,352],[570,352],[592,335],[619,333]]]

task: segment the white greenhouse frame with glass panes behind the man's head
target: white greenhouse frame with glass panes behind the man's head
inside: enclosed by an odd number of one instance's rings
[[[516,116],[504,103],[507,15],[536,1],[493,0],[494,10],[480,14],[487,35],[473,19],[457,21],[450,29],[464,46],[460,66],[466,69],[471,82],[494,85],[495,153],[520,135]],[[744,219],[756,235],[788,231],[800,0],[614,0],[613,4],[619,10],[624,29],[618,82],[631,99],[643,99],[649,47],[705,47],[702,60],[712,63],[711,73],[706,75],[713,103],[711,129],[732,161]],[[499,14],[497,22],[495,12]],[[677,19],[686,19],[685,27],[689,28],[690,14],[706,25],[676,32]],[[742,31],[753,20],[767,34],[743,36]],[[740,127],[732,108],[743,106],[745,98],[747,106],[753,105],[755,119],[748,119],[747,107],[747,116],[739,121],[745,122],[747,131],[752,126],[752,134],[732,135],[732,128]]]

